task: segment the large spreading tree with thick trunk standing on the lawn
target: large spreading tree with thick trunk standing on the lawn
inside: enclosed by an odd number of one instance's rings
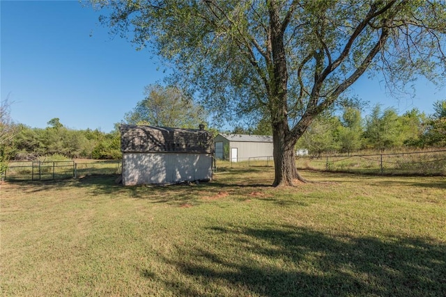
[[[268,114],[275,186],[301,179],[296,141],[366,71],[403,86],[446,69],[444,1],[92,2],[114,33],[173,63],[176,82],[221,115]]]

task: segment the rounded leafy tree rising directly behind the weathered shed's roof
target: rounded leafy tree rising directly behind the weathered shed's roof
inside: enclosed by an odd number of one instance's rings
[[[125,114],[131,125],[194,128],[206,122],[206,113],[190,97],[173,86],[150,85],[144,88],[145,98]]]

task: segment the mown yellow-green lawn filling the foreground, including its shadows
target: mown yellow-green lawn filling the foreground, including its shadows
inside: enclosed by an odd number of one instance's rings
[[[446,178],[3,182],[1,296],[445,296]]]

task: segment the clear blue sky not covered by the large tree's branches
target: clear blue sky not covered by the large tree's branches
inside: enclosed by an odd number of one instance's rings
[[[109,132],[144,99],[144,86],[162,81],[157,57],[98,22],[100,13],[78,1],[1,1],[1,99],[9,96],[15,122],[47,127],[60,118],[72,129]],[[157,70],[160,68],[161,70]],[[171,70],[167,70],[169,72]],[[390,97],[378,79],[363,77],[353,94],[404,113],[433,113],[446,88],[420,80],[415,97]]]

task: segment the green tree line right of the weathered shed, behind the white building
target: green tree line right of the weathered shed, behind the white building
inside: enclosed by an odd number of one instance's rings
[[[351,153],[358,150],[394,150],[401,148],[446,146],[446,100],[433,104],[434,113],[426,115],[412,109],[398,115],[395,109],[376,105],[369,115],[360,108],[346,107],[339,115],[325,111],[318,115],[295,147],[310,154]],[[235,134],[271,135],[268,120],[255,127],[236,127]]]

